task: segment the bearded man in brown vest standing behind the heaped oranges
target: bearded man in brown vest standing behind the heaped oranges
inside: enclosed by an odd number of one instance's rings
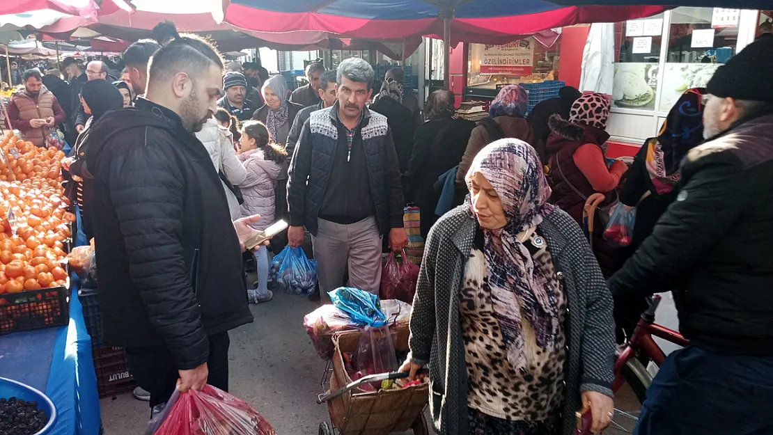
[[[24,90],[14,93],[8,104],[8,116],[22,139],[38,147],[46,146],[46,136],[66,117],[53,93],[43,86],[39,70],[24,72]]]

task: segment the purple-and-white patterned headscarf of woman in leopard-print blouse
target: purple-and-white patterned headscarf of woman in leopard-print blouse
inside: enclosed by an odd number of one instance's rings
[[[507,218],[504,228],[484,231],[483,253],[507,359],[516,369],[526,369],[522,310],[540,348],[555,347],[560,336],[557,281],[550,276],[547,265],[534,262],[518,239],[519,233],[539,225],[553,212],[553,206],[547,203],[550,186],[534,148],[518,139],[492,142],[478,153],[466,177],[471,191],[476,172],[491,183]],[[471,197],[468,206],[474,215]]]

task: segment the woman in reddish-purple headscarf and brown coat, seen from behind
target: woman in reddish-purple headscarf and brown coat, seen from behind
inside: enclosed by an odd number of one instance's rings
[[[472,131],[465,155],[461,158],[456,172],[456,185],[465,187],[465,176],[472,160],[483,147],[503,138],[520,139],[530,144],[532,127],[524,119],[529,105],[529,94],[518,85],[509,84],[499,90],[489,108],[489,117],[478,122]]]

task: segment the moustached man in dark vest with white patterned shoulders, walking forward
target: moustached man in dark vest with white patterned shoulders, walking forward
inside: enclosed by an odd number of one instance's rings
[[[343,284],[378,294],[381,236],[403,249],[400,165],[386,117],[365,107],[373,68],[346,59],[337,73],[338,101],[312,113],[301,129],[290,164],[290,246],[312,233],[322,294]]]

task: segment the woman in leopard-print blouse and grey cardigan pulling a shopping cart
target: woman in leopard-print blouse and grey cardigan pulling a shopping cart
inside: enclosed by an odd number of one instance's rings
[[[587,240],[547,202],[540,158],[524,141],[487,145],[465,180],[467,203],[424,247],[401,370],[413,378],[428,367],[442,435],[570,435],[579,410],[598,433],[613,413],[615,343]]]

